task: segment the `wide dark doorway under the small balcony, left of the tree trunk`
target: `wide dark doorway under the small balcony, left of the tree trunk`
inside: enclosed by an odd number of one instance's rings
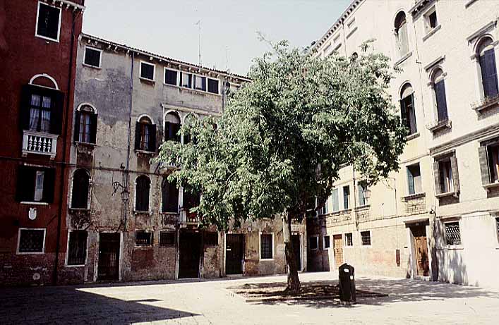
[[[199,278],[201,235],[193,231],[179,234],[179,278]]]

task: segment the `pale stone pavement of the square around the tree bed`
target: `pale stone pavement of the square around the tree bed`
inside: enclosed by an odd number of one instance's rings
[[[301,274],[332,281],[334,274]],[[387,293],[347,307],[331,300],[246,303],[227,290],[285,276],[0,289],[0,324],[499,324],[499,290],[358,277]]]

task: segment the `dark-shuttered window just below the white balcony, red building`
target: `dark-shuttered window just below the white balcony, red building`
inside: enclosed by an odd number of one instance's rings
[[[45,202],[54,200],[54,168],[18,167],[16,200],[18,202]]]

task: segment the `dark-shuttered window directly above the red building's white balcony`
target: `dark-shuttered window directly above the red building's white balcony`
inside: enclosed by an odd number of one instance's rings
[[[25,85],[21,98],[23,130],[60,134],[63,103],[64,97],[59,90]]]

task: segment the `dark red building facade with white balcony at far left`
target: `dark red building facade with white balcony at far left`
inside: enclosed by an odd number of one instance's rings
[[[59,283],[83,0],[0,1],[0,284]]]

